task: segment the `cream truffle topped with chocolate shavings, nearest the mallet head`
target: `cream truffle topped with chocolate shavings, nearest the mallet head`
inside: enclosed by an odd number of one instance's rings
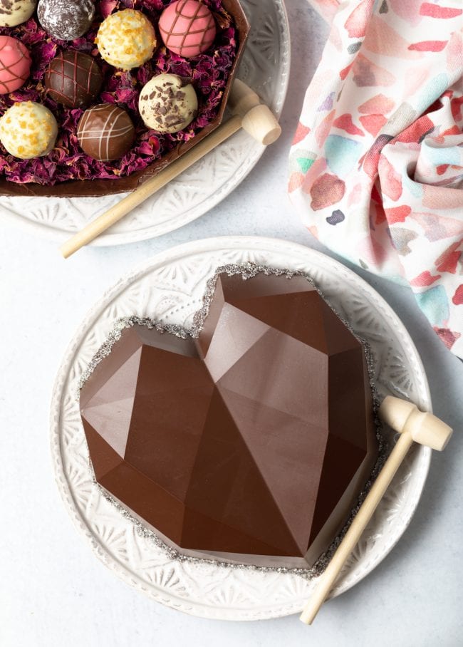
[[[189,81],[175,74],[160,74],[142,88],[138,109],[147,128],[178,133],[198,113],[198,98]]]

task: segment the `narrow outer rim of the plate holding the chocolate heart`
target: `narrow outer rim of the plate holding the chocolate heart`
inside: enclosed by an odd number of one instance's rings
[[[216,237],[216,238],[202,239],[199,241],[189,242],[176,247],[172,247],[171,249],[167,249],[165,250],[165,252],[156,254],[154,257],[151,257],[150,259],[147,259],[144,262],[138,264],[135,267],[135,269],[133,269],[132,271],[130,271],[130,273],[123,276],[110,289],[105,291],[103,296],[95,303],[95,305],[85,315],[85,317],[80,323],[80,326],[78,326],[76,333],[74,334],[71,340],[71,343],[69,343],[68,348],[66,348],[66,351],[63,354],[63,362],[61,363],[61,366],[58,370],[56,381],[53,386],[53,394],[51,398],[51,453],[53,457],[53,467],[55,470],[55,477],[56,477],[56,483],[58,485],[58,490],[60,491],[61,497],[63,498],[63,502],[65,503],[66,509],[68,510],[68,513],[73,519],[73,522],[78,528],[80,534],[83,534],[83,536],[86,537],[86,539],[90,543],[90,547],[93,549],[93,552],[96,554],[96,556],[101,561],[103,561],[103,563],[105,563],[108,567],[110,567],[110,569],[113,570],[115,574],[117,574],[120,577],[120,579],[123,579],[123,581],[125,581],[127,584],[131,584],[132,586],[135,587],[135,589],[143,591],[152,599],[160,601],[162,604],[165,604],[166,606],[170,606],[173,609],[179,609],[187,614],[204,617],[204,618],[215,618],[215,619],[236,620],[236,621],[244,621],[244,620],[251,621],[256,619],[276,618],[276,617],[298,613],[299,611],[301,611],[302,606],[301,604],[298,603],[298,601],[293,602],[292,604],[281,604],[281,606],[280,607],[277,606],[276,609],[275,609],[275,604],[273,605],[264,604],[259,607],[259,614],[256,615],[256,611],[254,609],[245,611],[242,608],[235,608],[235,609],[227,608],[227,610],[225,611],[225,609],[223,608],[217,609],[217,607],[211,606],[210,604],[198,604],[197,602],[192,602],[191,604],[188,604],[185,599],[176,597],[170,591],[164,594],[160,599],[160,596],[161,596],[160,593],[155,594],[153,590],[149,590],[147,587],[147,584],[144,581],[142,581],[140,578],[138,578],[137,580],[136,574],[132,573],[132,571],[130,571],[128,567],[124,566],[120,561],[115,559],[115,557],[113,557],[112,555],[106,554],[104,546],[102,547],[100,541],[90,531],[90,528],[88,527],[87,521],[83,517],[83,514],[81,514],[81,512],[78,510],[75,503],[71,504],[70,502],[69,497],[71,497],[71,499],[74,501],[73,492],[66,478],[66,473],[62,462],[61,444],[60,444],[61,437],[59,435],[61,400],[63,395],[63,388],[66,382],[66,377],[68,376],[68,370],[71,367],[73,363],[73,359],[76,356],[76,348],[79,348],[80,344],[83,341],[83,338],[85,337],[85,334],[88,332],[89,324],[92,321],[94,323],[97,321],[98,316],[100,316],[103,309],[107,307],[111,301],[117,298],[118,293],[120,293],[120,291],[123,288],[125,289],[126,287],[128,287],[133,281],[135,281],[137,278],[140,278],[147,271],[152,271],[153,269],[156,269],[157,267],[160,267],[163,264],[175,262],[176,259],[182,259],[187,255],[191,256],[192,254],[200,254],[201,252],[207,253],[218,249],[222,249],[222,250],[238,249],[242,251],[246,251],[249,249],[252,249],[254,251],[255,249],[257,249],[259,251],[259,245],[261,246],[260,248],[261,251],[271,251],[272,246],[277,246],[281,248],[279,252],[287,251],[289,258],[292,258],[291,251],[293,251],[293,252],[298,252],[299,254],[306,254],[306,256],[308,257],[308,263],[311,262],[311,259],[314,259],[316,261],[318,260],[318,262],[321,262],[321,264],[327,265],[329,269],[335,270],[335,269],[342,268],[342,270],[345,273],[347,273],[351,278],[353,278],[354,282],[360,283],[363,286],[363,289],[365,289],[366,293],[369,293],[370,295],[374,296],[375,301],[380,306],[382,306],[383,309],[385,309],[388,312],[388,314],[391,316],[391,319],[392,321],[394,321],[395,327],[399,331],[400,336],[403,338],[403,340],[405,340],[405,343],[407,343],[407,346],[409,346],[410,351],[412,351],[414,355],[413,361],[415,361],[417,371],[419,371],[420,377],[422,378],[422,391],[420,393],[421,398],[423,400],[424,405],[427,406],[428,410],[432,410],[429,385],[427,383],[425,370],[422,366],[420,356],[418,355],[415,345],[413,344],[412,339],[410,338],[410,335],[408,334],[405,326],[400,321],[400,319],[395,314],[395,312],[392,311],[392,309],[387,304],[387,302],[383,299],[383,297],[381,297],[378,294],[378,292],[376,292],[375,289],[373,289],[373,287],[371,287],[363,279],[361,279],[360,276],[355,274],[355,272],[348,269],[343,264],[340,264],[335,259],[332,259],[331,257],[328,257],[325,254],[322,254],[321,252],[317,252],[316,250],[313,250],[309,247],[305,247],[301,244],[294,243],[291,241],[274,239],[274,238],[266,238],[266,237]],[[291,266],[291,262],[289,263],[289,266]],[[402,523],[400,534],[397,537],[395,537],[395,539],[392,542],[389,542],[387,544],[386,549],[383,550],[383,552],[381,552],[378,559],[376,561],[373,561],[368,568],[364,569],[360,577],[358,577],[357,579],[354,578],[353,581],[348,581],[347,584],[341,584],[341,586],[338,586],[334,591],[333,597],[347,591],[352,586],[357,584],[358,581],[361,581],[363,577],[367,576],[371,571],[373,571],[375,566],[377,566],[380,563],[380,561],[383,561],[383,559],[387,556],[387,554],[390,553],[392,548],[395,547],[400,537],[402,537],[403,532],[405,532],[408,525],[410,524],[410,521],[415,512],[417,504],[420,500],[420,496],[426,482],[427,472],[430,467],[430,460],[432,455],[432,452],[428,447],[420,447],[418,451],[420,452],[421,481],[420,481],[419,487],[418,486],[416,487],[415,500],[408,502],[408,508],[410,509],[407,509],[407,506],[405,506],[407,517],[405,521]],[[67,487],[65,485],[62,485],[62,483],[58,480],[58,477],[60,476],[63,476],[65,478]],[[254,614],[254,617],[250,617],[252,614]]]

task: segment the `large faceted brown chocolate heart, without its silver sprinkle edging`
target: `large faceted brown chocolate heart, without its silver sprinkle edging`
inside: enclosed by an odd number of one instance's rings
[[[97,481],[185,554],[312,564],[377,455],[363,347],[303,276],[221,274],[198,339],[126,329],[80,402]]]

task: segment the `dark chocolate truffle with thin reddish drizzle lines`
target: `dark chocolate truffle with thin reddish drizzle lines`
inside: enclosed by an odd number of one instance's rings
[[[58,54],[45,74],[48,96],[67,108],[86,108],[100,93],[102,83],[95,58],[78,51]]]

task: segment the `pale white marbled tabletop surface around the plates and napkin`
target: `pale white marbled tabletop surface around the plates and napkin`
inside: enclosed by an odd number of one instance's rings
[[[359,271],[406,324],[421,353],[435,413],[454,425],[432,460],[410,528],[383,564],[327,604],[311,628],[296,616],[225,623],[182,616],[145,599],[93,557],[53,483],[48,403],[61,355],[102,291],[137,262],[175,244],[225,234],[291,239],[321,249],[286,197],[286,159],[303,90],[326,27],[288,0],[293,36],[283,137],[222,205],[173,234],[128,247],[56,247],[0,224],[0,645],[2,647],[407,646],[463,644],[463,364],[439,342],[410,291]]]

